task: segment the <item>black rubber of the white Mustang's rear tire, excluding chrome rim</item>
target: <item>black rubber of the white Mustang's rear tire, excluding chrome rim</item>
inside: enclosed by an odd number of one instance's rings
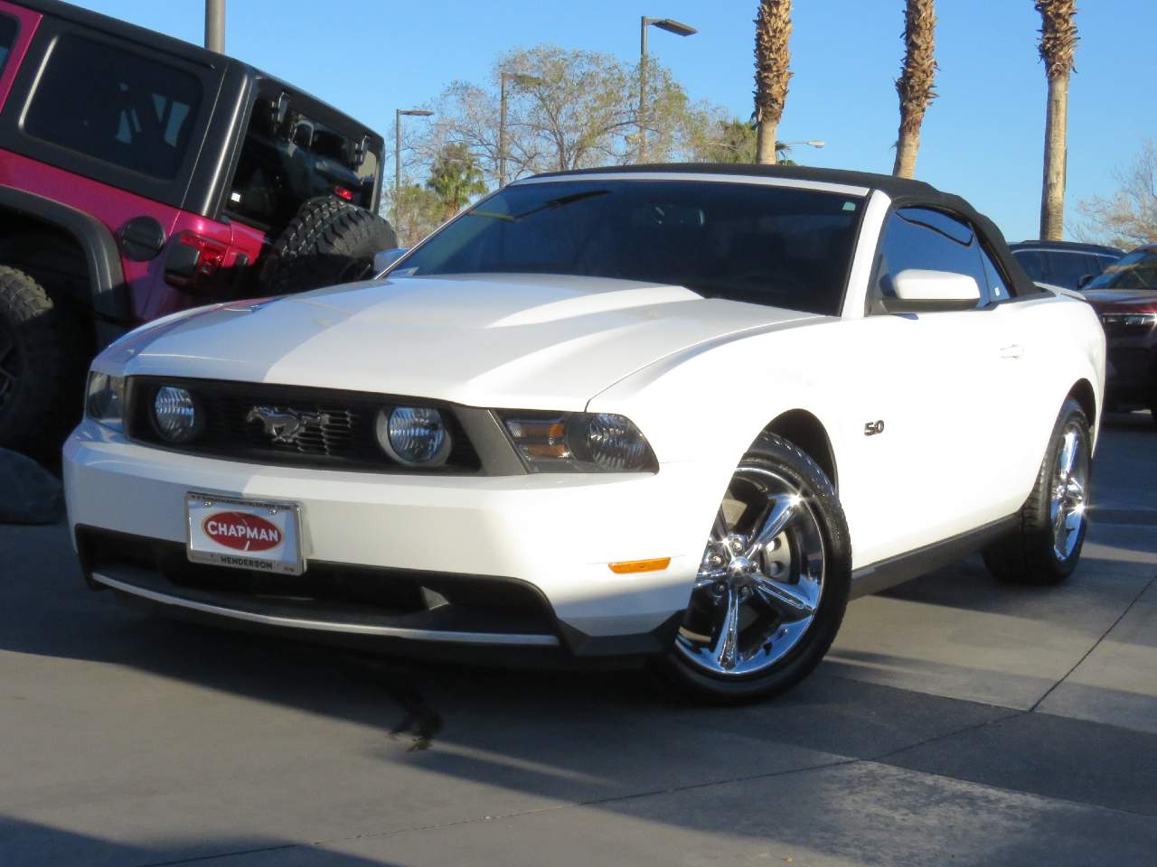
[[[1089,529],[1089,519],[1085,518],[1082,521],[1076,544],[1067,557],[1059,556],[1055,550],[1053,525],[1049,519],[1053,472],[1063,447],[1064,429],[1070,423],[1075,423],[1082,431],[1081,443],[1082,447],[1086,450],[1089,459],[1090,476],[1085,491],[1086,503],[1092,492],[1092,455],[1088,451],[1091,449],[1092,435],[1089,418],[1081,405],[1069,399],[1061,407],[1061,414],[1053,427],[1053,433],[1048,440],[1048,447],[1045,450],[1045,458],[1040,462],[1032,494],[1020,507],[1019,525],[1012,533],[983,551],[985,565],[1001,581],[1037,586],[1060,584],[1073,575],[1073,570],[1076,569],[1077,562],[1081,560],[1081,549]]]

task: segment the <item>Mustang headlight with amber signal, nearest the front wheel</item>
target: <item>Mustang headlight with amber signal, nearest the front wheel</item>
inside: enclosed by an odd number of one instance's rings
[[[532,473],[656,473],[658,461],[634,423],[611,413],[500,413]]]

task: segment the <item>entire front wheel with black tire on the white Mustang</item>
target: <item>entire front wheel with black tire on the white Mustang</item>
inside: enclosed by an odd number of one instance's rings
[[[827,653],[850,579],[832,482],[795,445],[764,435],[735,470],[675,645],[654,665],[699,701],[786,692]]]

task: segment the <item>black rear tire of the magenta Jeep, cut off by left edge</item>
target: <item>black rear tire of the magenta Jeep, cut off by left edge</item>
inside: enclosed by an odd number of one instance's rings
[[[0,266],[0,447],[56,455],[80,418],[89,349],[73,310]]]

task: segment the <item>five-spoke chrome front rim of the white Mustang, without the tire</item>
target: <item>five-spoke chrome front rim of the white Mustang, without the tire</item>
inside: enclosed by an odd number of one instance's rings
[[[740,466],[703,550],[676,651],[717,677],[767,670],[811,627],[824,591],[824,536],[801,489]]]

